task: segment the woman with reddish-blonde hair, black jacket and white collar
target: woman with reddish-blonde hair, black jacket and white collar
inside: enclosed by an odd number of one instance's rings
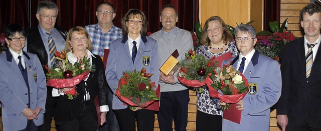
[[[92,43],[85,28],[76,26],[69,30],[65,50],[70,63],[74,64],[83,57],[90,59],[91,71],[88,77],[76,85],[79,93],[76,98],[70,100],[66,95],[60,95],[57,100],[55,120],[61,130],[96,130],[97,112],[94,103],[95,97],[99,96],[100,119],[102,124],[106,121],[107,105],[107,82],[104,73],[104,64],[100,56],[92,54]],[[60,93],[70,88],[59,89]]]

